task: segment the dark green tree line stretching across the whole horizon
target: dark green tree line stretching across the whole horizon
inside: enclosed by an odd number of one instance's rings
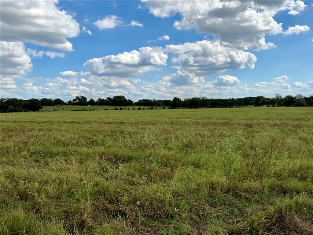
[[[1,98],[0,112],[28,112],[38,111],[42,106],[56,106],[56,105],[79,105],[79,106],[146,106],[146,107],[170,107],[170,108],[227,108],[227,107],[243,107],[243,106],[267,106],[267,107],[306,107],[313,106],[313,96],[305,97],[303,95],[285,96],[282,97],[276,94],[273,98],[258,97],[244,97],[244,98],[229,98],[229,99],[208,99],[206,97],[192,97],[180,99],[174,97],[172,100],[156,100],[156,99],[141,99],[133,102],[126,99],[124,96],[107,97],[106,99],[99,98],[96,101],[92,98],[89,100],[84,96],[76,96],[73,100],[64,102],[57,98],[42,98],[22,100],[17,98]]]

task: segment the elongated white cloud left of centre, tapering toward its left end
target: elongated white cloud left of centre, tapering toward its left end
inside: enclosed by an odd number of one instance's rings
[[[90,59],[84,66],[94,75],[126,78],[156,70],[157,65],[166,65],[167,57],[162,48],[141,47],[139,51]]]

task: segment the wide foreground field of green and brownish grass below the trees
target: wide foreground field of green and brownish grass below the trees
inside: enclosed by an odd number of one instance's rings
[[[1,114],[1,235],[313,234],[312,107]]]

